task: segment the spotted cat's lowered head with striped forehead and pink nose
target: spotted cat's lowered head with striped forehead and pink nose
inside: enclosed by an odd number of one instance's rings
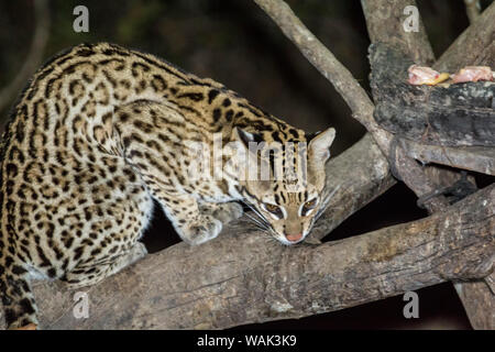
[[[276,240],[286,245],[301,242],[324,210],[324,165],[330,157],[329,148],[336,130],[330,128],[312,139],[305,136],[292,144],[284,142],[282,151],[278,150],[279,144],[275,143],[277,146],[273,148],[274,152],[268,152],[268,156],[249,150],[253,142],[267,142],[266,138],[240,129],[234,134],[260,167],[257,178],[246,177],[242,184],[244,201],[257,215],[256,220],[261,220],[266,232]],[[265,176],[270,174],[268,179],[261,175],[263,165],[268,169],[265,173]]]

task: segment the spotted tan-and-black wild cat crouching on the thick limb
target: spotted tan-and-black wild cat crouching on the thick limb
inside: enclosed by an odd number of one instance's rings
[[[239,218],[237,201],[284,244],[302,241],[323,209],[333,129],[309,142],[302,188],[235,173],[191,177],[198,156],[186,141],[212,146],[217,136],[252,155],[252,142],[309,138],[150,54],[108,43],[69,48],[35,73],[11,114],[0,147],[0,292],[9,328],[37,324],[31,278],[77,288],[146,255],[139,240],[153,200],[190,244]]]

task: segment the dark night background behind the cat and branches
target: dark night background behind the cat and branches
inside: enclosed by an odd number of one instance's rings
[[[360,1],[289,0],[301,21],[369,90],[367,37]],[[433,51],[439,56],[469,25],[462,0],[419,0]],[[486,7],[491,0],[483,1]],[[89,9],[89,32],[73,31],[73,9]],[[332,86],[250,0],[50,1],[50,40],[45,58],[81,42],[108,41],[164,57],[177,66],[211,77],[253,103],[307,131],[337,129],[332,154],[354,144],[364,129]],[[33,1],[0,1],[0,90],[19,73],[34,31]],[[1,125],[8,108],[3,107]],[[486,179],[482,179],[482,183]],[[415,195],[396,185],[327,240],[342,239],[425,217]],[[178,242],[156,212],[145,237],[151,251]],[[294,329],[470,329],[451,284],[419,294],[419,319],[405,319],[402,297],[300,320],[243,328]]]

